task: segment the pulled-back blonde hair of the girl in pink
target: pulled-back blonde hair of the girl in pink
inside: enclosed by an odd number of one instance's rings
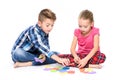
[[[79,19],[89,19],[90,22],[94,22],[94,19],[93,19],[93,13],[89,10],[83,10],[80,15],[79,15]]]

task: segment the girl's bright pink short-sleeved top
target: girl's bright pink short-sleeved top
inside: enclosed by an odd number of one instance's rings
[[[77,37],[78,40],[78,54],[89,54],[89,52],[92,50],[94,47],[94,36],[95,35],[100,35],[99,34],[99,29],[92,27],[90,33],[87,36],[83,36],[81,34],[80,29],[75,29],[74,35]],[[100,48],[99,50],[100,51]]]

